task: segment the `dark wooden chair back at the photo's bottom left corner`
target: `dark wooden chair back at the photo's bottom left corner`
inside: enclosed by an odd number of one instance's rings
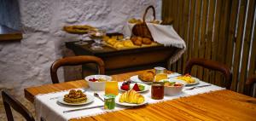
[[[5,108],[6,116],[8,121],[14,121],[13,113],[11,111],[12,107],[15,111],[19,112],[27,121],[34,121],[32,113],[28,112],[26,107],[24,107],[20,101],[17,101],[12,95],[9,94],[7,90],[2,91],[3,106]]]

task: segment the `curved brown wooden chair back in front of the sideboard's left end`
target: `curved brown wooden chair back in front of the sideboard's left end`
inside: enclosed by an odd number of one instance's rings
[[[58,84],[59,79],[57,75],[58,68],[61,66],[79,66],[84,65],[86,63],[95,63],[97,65],[98,73],[104,74],[104,62],[101,58],[90,55],[81,55],[81,56],[73,56],[66,57],[60,60],[55,60],[55,62],[50,66],[50,77],[53,84]]]

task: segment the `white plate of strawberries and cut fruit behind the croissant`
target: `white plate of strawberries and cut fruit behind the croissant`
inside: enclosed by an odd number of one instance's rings
[[[130,89],[134,89],[137,92],[145,92],[149,90],[149,86],[147,84],[131,84],[131,81],[125,81],[123,83],[119,83],[119,90],[128,91]]]

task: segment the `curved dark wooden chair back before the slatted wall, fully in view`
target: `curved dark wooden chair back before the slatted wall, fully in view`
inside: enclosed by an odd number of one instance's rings
[[[225,77],[224,87],[226,89],[230,89],[232,83],[232,73],[230,71],[229,66],[226,66],[222,63],[213,60],[206,60],[201,58],[194,58],[187,62],[185,73],[191,73],[193,66],[203,66],[207,69],[211,69],[214,71],[222,72]]]

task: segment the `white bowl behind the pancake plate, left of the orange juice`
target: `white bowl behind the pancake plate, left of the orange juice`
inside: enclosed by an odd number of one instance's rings
[[[112,77],[110,77],[108,75],[90,75],[90,76],[85,77],[84,80],[87,81],[90,89],[96,90],[96,91],[104,90],[106,82],[91,82],[91,81],[89,81],[89,79],[91,79],[91,78],[96,78],[96,79],[103,78],[107,81],[112,80]]]

